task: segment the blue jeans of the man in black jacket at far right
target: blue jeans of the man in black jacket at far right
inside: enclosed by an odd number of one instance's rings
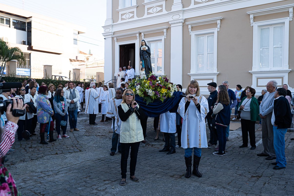
[[[273,126],[273,132],[277,166],[286,167],[287,162],[285,157],[285,134],[287,133],[287,128],[278,129],[278,127]]]

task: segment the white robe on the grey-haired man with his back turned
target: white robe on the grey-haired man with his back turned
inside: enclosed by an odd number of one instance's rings
[[[98,114],[99,113],[99,107],[98,107],[98,94],[97,91],[93,88],[90,88],[87,90],[88,96],[87,96],[87,103],[86,103],[86,109],[85,114]]]

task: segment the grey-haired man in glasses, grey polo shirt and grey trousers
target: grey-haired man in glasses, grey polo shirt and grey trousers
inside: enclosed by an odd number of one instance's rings
[[[260,157],[266,157],[266,160],[274,160],[276,158],[275,149],[274,149],[274,134],[273,134],[273,125],[271,118],[273,115],[274,108],[274,96],[275,89],[277,88],[278,83],[275,80],[271,80],[265,85],[266,90],[268,91],[263,96],[263,99],[259,105],[260,118],[261,118],[261,130],[262,130],[262,144],[263,152],[257,154]],[[288,103],[289,104],[289,103]]]

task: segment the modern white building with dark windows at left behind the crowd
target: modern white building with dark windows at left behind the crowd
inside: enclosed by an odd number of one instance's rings
[[[0,38],[19,47],[27,59],[26,66],[9,62],[8,72],[43,78],[46,67],[48,75],[72,77],[74,66],[69,59],[77,59],[78,35],[86,32],[85,27],[5,4],[0,4],[0,19]]]

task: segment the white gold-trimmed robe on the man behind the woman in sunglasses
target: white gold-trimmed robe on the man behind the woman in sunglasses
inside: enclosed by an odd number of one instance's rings
[[[114,131],[117,134],[121,132],[121,119],[118,116],[118,109],[117,107],[121,104],[123,99],[115,99],[114,97],[110,99],[108,105],[108,111],[106,117],[115,117],[114,122]],[[111,128],[113,128],[113,123],[111,123]]]

